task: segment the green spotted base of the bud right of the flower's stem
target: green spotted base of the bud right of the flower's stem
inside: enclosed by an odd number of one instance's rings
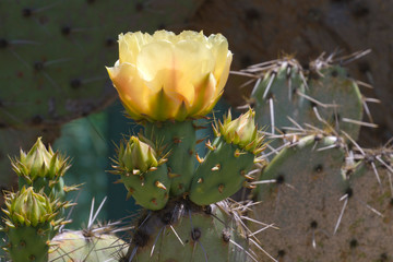
[[[222,136],[212,146],[214,150],[196,168],[191,183],[189,196],[198,205],[209,205],[236,193],[254,162],[252,153],[228,144]]]

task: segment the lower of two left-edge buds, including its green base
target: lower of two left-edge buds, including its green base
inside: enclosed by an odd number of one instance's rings
[[[48,261],[48,242],[62,221],[56,217],[66,203],[50,201],[32,187],[10,192],[4,199],[7,210],[3,212],[8,217],[3,217],[3,230],[9,238],[7,251],[12,261]]]

